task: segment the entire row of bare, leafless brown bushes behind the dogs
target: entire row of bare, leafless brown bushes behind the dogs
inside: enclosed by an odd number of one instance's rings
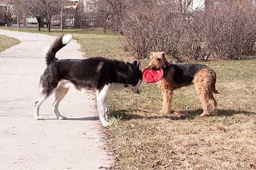
[[[118,28],[137,58],[165,52],[177,61],[232,59],[255,53],[255,7],[220,1],[191,13],[174,3],[131,0]]]

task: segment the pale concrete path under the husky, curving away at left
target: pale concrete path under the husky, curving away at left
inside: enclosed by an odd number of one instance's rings
[[[57,120],[50,97],[34,119],[39,79],[46,69],[44,51],[55,37],[0,29],[20,44],[0,53],[0,169],[105,169],[113,160],[104,150],[104,134],[94,96],[71,89]],[[0,40],[1,41],[1,40]],[[82,58],[72,40],[57,58]]]

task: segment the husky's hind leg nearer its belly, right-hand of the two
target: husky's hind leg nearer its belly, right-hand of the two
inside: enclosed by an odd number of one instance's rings
[[[67,95],[68,90],[69,90],[69,88],[64,88],[62,86],[57,88],[55,91],[55,99],[51,103],[52,107],[53,107],[53,111],[59,120],[67,119],[65,116],[60,115],[58,107],[59,107],[60,101],[65,97],[65,95]]]

